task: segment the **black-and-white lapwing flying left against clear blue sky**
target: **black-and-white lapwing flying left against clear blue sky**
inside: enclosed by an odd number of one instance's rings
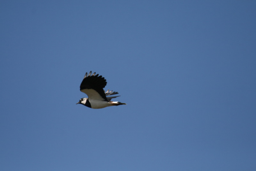
[[[81,98],[78,103],[76,104],[83,104],[86,107],[90,107],[92,109],[101,109],[104,107],[109,106],[119,106],[125,103],[121,103],[119,101],[111,101],[111,99],[119,97],[119,96],[112,96],[111,95],[118,94],[118,92],[113,92],[107,90],[106,92],[103,88],[107,85],[107,81],[102,75],[96,74],[92,71],[84,75],[84,79],[80,85],[80,91],[87,94],[88,98]]]

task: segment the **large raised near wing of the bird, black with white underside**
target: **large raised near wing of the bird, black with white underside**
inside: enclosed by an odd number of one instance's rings
[[[95,75],[96,72],[94,72],[92,75],[91,73],[92,72],[90,71],[87,75],[86,72],[84,75],[84,79],[80,85],[80,91],[87,94],[89,99],[108,101],[103,90],[103,88],[107,85],[107,81],[101,75]]]

